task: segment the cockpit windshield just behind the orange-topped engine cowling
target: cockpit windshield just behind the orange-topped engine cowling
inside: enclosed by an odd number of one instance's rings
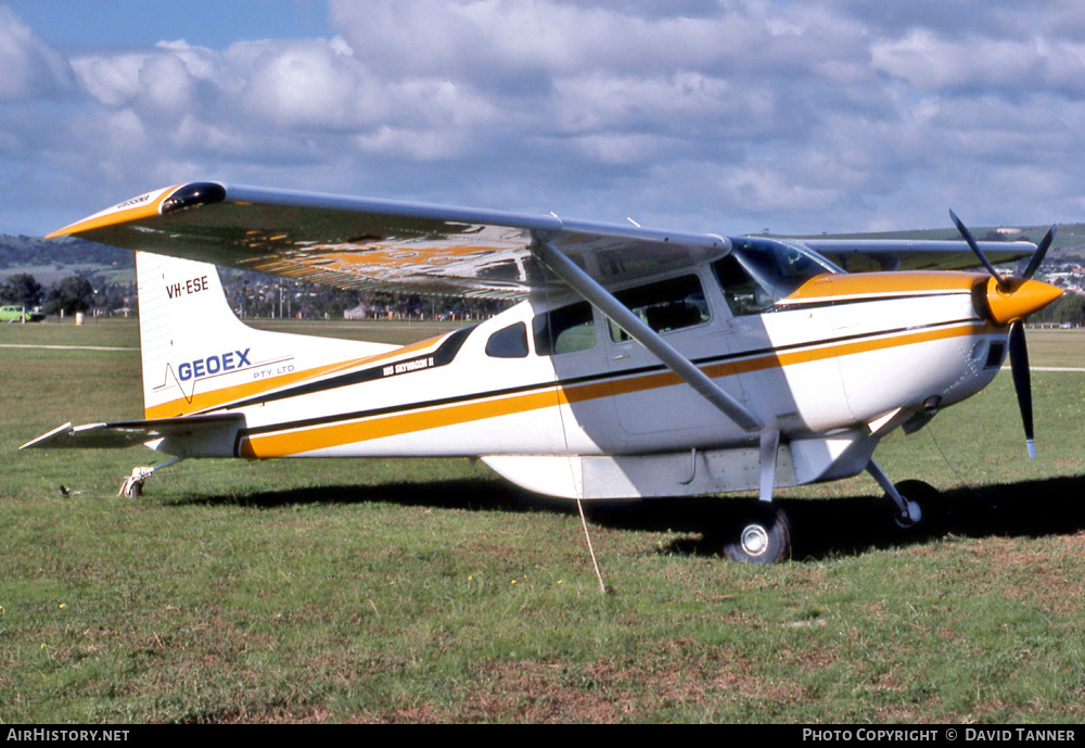
[[[712,268],[736,317],[768,312],[810,278],[839,272],[794,244],[756,238],[732,240]]]

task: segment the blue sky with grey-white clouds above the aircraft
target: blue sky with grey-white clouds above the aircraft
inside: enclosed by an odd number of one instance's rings
[[[1085,220],[1076,0],[0,0],[0,233],[190,179],[720,233]]]

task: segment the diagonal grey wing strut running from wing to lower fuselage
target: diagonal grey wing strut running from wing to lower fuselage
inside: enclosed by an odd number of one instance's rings
[[[634,340],[648,348],[667,368],[681,377],[702,397],[742,427],[744,431],[755,432],[764,428],[761,419],[720,389],[692,362],[672,347],[655,330],[640,321],[640,318],[630,312],[625,304],[577,267],[573,261],[546,241],[536,242],[535,252],[570,288],[613,319]]]

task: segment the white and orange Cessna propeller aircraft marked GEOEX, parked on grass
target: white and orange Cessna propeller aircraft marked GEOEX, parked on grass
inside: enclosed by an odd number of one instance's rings
[[[52,234],[138,251],[145,420],[66,423],[24,448],[471,456],[577,500],[756,491],[727,555],[775,561],[791,532],[777,486],[866,470],[897,522],[917,522],[929,486],[898,491],[875,447],[982,390],[1007,352],[1032,449],[1022,320],[1060,293],[1032,279],[1054,227],[1036,246],[976,242],[957,223],[963,241],[727,238],[174,186]],[[992,265],[1026,256],[1021,278]],[[521,301],[403,347],[331,340],[245,326],[216,265]]]

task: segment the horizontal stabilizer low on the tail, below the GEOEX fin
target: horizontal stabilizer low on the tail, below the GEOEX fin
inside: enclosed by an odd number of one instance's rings
[[[116,449],[138,446],[168,436],[193,436],[210,431],[234,429],[244,424],[241,414],[159,418],[149,421],[114,421],[113,423],[65,423],[47,434],[27,442],[20,449],[100,448]]]

